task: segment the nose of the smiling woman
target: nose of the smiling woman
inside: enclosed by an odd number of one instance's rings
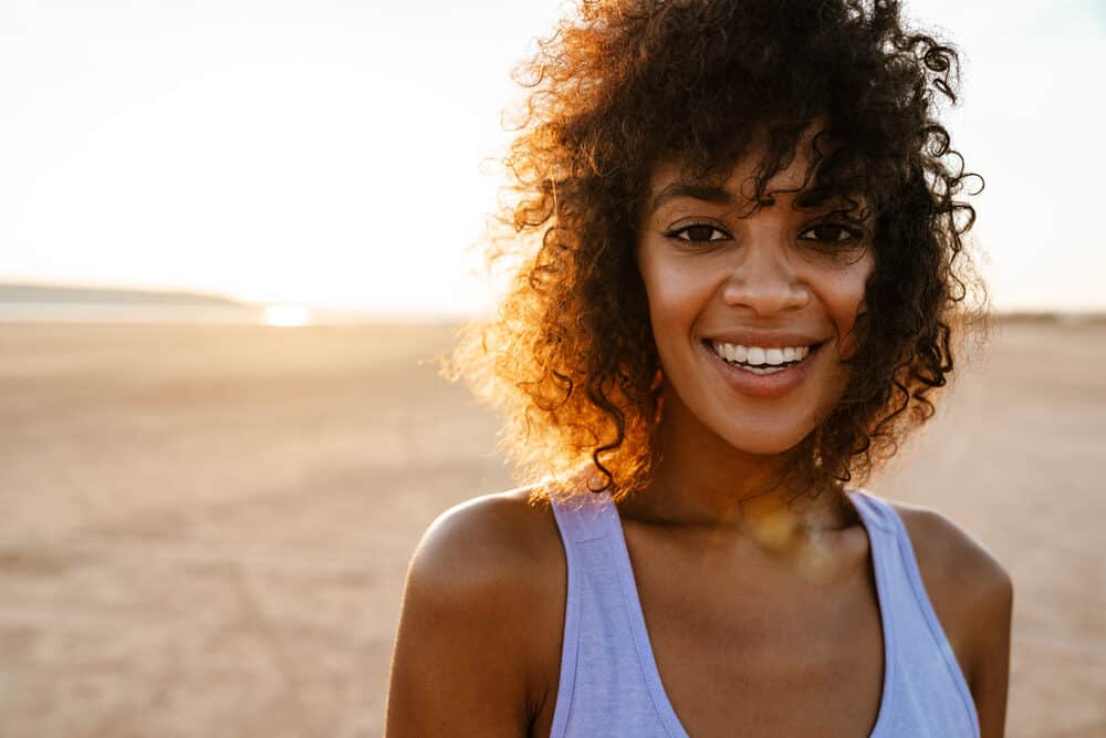
[[[785,247],[774,240],[745,243],[739,249],[739,261],[722,284],[722,300],[728,305],[771,315],[799,310],[810,302],[810,287],[794,269]]]

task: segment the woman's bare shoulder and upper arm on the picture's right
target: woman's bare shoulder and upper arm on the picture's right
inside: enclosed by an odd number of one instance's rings
[[[981,735],[1002,736],[1013,609],[1010,575],[943,516],[896,507],[910,533],[926,592],[971,690]]]

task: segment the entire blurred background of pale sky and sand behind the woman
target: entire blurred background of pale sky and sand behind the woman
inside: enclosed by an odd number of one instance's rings
[[[907,6],[995,328],[869,486],[1013,574],[1009,734],[1106,735],[1106,6]],[[0,736],[379,735],[413,548],[511,486],[435,360],[561,11],[0,3]]]

